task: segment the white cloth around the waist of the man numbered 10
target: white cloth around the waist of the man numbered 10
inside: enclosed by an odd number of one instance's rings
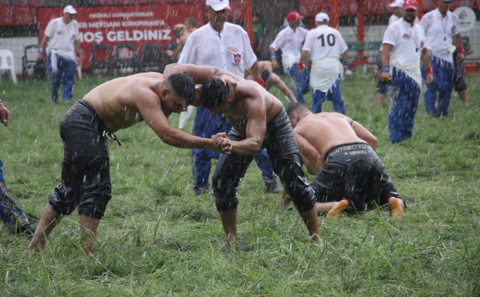
[[[313,61],[310,70],[310,87],[313,91],[320,90],[327,93],[339,79],[339,75],[343,77],[343,66],[339,58],[322,58]]]

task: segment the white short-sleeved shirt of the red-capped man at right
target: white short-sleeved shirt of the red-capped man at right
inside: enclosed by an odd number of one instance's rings
[[[386,29],[383,43],[393,45],[390,63],[420,61],[422,49],[427,46],[422,26],[415,24],[412,27],[403,18]]]

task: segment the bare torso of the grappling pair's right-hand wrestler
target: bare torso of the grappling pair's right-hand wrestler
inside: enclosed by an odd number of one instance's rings
[[[234,78],[237,84],[233,103],[223,114],[238,132],[246,132],[248,114],[251,114],[252,109],[260,110],[260,106],[265,106],[266,122],[270,122],[282,109],[282,102],[263,89],[258,82],[238,76]],[[258,114],[258,116],[261,115]]]

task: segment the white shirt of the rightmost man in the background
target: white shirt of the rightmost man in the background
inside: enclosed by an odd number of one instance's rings
[[[452,44],[453,36],[460,33],[457,15],[448,11],[446,17],[443,18],[437,8],[426,13],[420,21],[420,25],[425,30],[428,49],[434,56],[453,63],[452,53],[448,52],[448,46]]]

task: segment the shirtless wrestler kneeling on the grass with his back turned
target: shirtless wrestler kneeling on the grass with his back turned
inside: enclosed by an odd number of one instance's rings
[[[299,103],[287,109],[300,156],[311,175],[318,213],[365,211],[389,204],[403,217],[405,203],[377,156],[377,139],[358,122],[339,113],[313,114]],[[289,198],[284,194],[284,206]]]

